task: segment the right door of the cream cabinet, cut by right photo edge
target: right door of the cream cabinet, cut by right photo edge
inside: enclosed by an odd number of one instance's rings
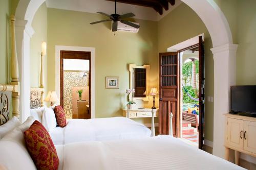
[[[256,154],[256,122],[244,121],[244,150]]]

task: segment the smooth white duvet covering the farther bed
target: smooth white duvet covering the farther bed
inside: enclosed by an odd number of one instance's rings
[[[126,117],[69,119],[64,128],[50,131],[54,144],[150,137],[151,130]]]

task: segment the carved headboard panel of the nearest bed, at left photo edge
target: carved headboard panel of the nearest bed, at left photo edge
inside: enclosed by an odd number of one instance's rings
[[[11,92],[0,92],[0,126],[10,119]]]

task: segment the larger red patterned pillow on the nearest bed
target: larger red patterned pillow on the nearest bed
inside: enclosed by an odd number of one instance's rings
[[[24,132],[26,147],[37,169],[58,169],[59,158],[52,139],[37,120]]]

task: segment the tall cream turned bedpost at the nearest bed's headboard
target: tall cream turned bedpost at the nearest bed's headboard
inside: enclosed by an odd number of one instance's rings
[[[19,118],[19,78],[18,78],[18,59],[15,41],[15,16],[11,16],[11,85],[12,91],[12,116]]]

